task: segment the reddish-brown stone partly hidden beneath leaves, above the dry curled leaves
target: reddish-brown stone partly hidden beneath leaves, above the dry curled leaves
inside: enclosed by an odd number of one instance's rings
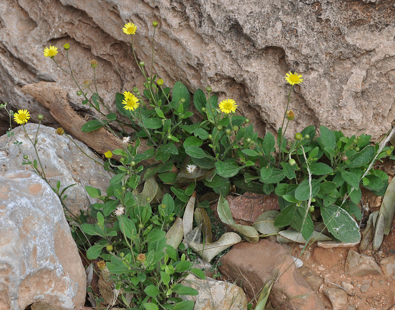
[[[252,225],[253,222],[264,212],[280,210],[277,196],[263,196],[261,194],[245,192],[243,196],[228,195],[225,197],[229,202],[233,219],[237,224]],[[217,204],[210,206],[217,215]]]

